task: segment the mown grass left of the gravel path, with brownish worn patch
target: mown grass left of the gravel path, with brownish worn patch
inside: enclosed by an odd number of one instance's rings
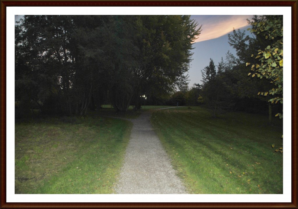
[[[15,193],[113,193],[131,127],[98,116],[16,123]]]

